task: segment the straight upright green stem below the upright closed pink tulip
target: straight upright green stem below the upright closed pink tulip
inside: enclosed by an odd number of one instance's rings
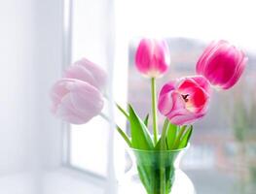
[[[155,145],[158,143],[158,114],[157,114],[157,90],[156,79],[151,79],[151,94],[152,94],[152,113],[153,113],[153,134]]]

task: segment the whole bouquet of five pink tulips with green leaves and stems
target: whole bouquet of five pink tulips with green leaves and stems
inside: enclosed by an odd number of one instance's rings
[[[174,160],[179,150],[188,146],[193,123],[207,113],[212,88],[231,88],[238,82],[246,61],[244,53],[228,42],[212,42],[201,54],[195,76],[168,81],[157,95],[156,81],[168,69],[169,49],[164,40],[140,41],[135,64],[151,81],[152,115],[140,118],[131,105],[127,111],[117,104],[128,119],[130,136],[119,126],[117,131],[134,151],[139,178],[148,194],[171,192]],[[103,108],[105,81],[106,73],[91,61],[76,62],[55,82],[53,113],[70,123],[88,122]],[[158,111],[165,116],[161,134]],[[151,118],[152,135],[148,125]]]

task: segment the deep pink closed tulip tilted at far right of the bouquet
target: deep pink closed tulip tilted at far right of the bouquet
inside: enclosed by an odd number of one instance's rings
[[[212,85],[229,89],[238,82],[248,58],[226,41],[212,42],[201,54],[197,73]]]

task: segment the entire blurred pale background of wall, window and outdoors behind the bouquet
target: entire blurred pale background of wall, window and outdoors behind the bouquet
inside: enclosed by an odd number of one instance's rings
[[[195,74],[203,49],[225,39],[249,62],[231,90],[214,92],[195,125],[181,168],[198,194],[254,194],[256,27],[253,0],[9,0],[0,2],[0,193],[116,193],[128,166],[125,145],[101,117],[69,126],[50,113],[49,90],[86,56],[110,75],[110,102],[150,112],[149,81],[134,68],[141,37],[164,38],[169,72]],[[104,112],[123,128],[106,101]],[[163,117],[160,119],[160,125]]]

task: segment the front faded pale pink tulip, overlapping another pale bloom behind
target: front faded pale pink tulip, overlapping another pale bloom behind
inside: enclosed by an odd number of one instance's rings
[[[73,124],[88,122],[103,108],[103,96],[85,81],[62,79],[55,82],[51,92],[53,113]]]

